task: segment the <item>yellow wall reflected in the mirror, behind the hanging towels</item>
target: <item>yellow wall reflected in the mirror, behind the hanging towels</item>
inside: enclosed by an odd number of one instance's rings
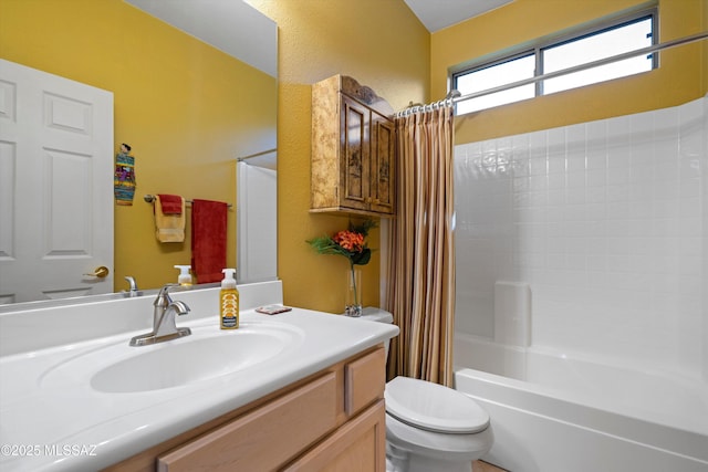
[[[173,265],[190,263],[190,225],[184,243],[158,243],[145,193],[236,203],[235,157],[274,141],[273,77],[122,0],[0,0],[0,56],[114,93],[116,150],[133,147],[137,172],[134,206],[115,208],[116,290],[125,275],[176,282]],[[243,148],[253,136],[266,147]]]

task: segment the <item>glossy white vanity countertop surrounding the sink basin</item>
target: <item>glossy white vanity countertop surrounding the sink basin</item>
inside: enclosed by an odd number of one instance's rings
[[[198,307],[192,306],[192,312],[205,311],[204,305],[195,305]],[[42,316],[37,318],[41,321]],[[6,326],[17,325],[17,319]],[[34,350],[3,355],[0,357],[0,469],[94,471],[105,468],[398,333],[394,325],[300,308],[278,315],[262,315],[253,310],[241,312],[243,329],[263,323],[267,326],[282,324],[283,328],[296,331],[299,336],[282,353],[261,364],[180,387],[144,392],[97,391],[84,377],[85,373],[67,374],[65,366],[92,350],[103,353],[108,350],[102,349],[110,348],[131,353],[134,352],[131,349],[165,348],[169,343],[188,342],[189,337],[155,346],[128,346],[132,336],[145,332],[139,327],[134,332],[64,344],[45,343],[48,345]],[[189,326],[192,336],[231,335],[219,332],[218,318],[205,313],[178,317],[177,325]],[[24,323],[23,328],[27,326]],[[58,370],[62,368],[64,370]]]

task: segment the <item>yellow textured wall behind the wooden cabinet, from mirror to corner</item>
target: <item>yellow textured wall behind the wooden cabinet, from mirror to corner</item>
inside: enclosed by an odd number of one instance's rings
[[[278,264],[287,304],[341,313],[344,258],[305,240],[345,229],[347,219],[310,214],[311,85],[351,75],[394,109],[428,96],[429,33],[402,0],[250,0],[278,22]],[[378,230],[369,247],[381,248]],[[364,266],[364,304],[377,305],[379,252]]]

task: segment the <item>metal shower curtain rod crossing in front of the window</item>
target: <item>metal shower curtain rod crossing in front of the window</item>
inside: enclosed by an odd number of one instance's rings
[[[468,101],[468,99],[478,98],[480,96],[491,95],[491,94],[494,94],[497,92],[503,92],[503,91],[507,91],[507,90],[520,87],[522,85],[535,84],[537,82],[540,82],[540,81],[544,81],[544,80],[549,80],[549,78],[555,78],[555,77],[560,77],[562,75],[573,74],[575,72],[581,72],[581,71],[584,71],[586,69],[597,67],[597,66],[611,64],[611,63],[617,62],[617,61],[624,61],[625,59],[635,57],[637,55],[649,54],[649,53],[653,53],[653,52],[656,52],[656,51],[660,51],[660,50],[665,50],[665,49],[669,49],[669,48],[675,48],[675,46],[683,45],[683,44],[693,43],[693,42],[696,42],[696,41],[705,40],[706,38],[708,38],[708,31],[704,31],[702,33],[697,33],[697,34],[691,34],[691,35],[688,35],[688,36],[679,38],[677,40],[666,41],[666,42],[663,42],[660,44],[654,44],[654,45],[650,45],[650,46],[646,46],[646,48],[643,48],[643,49],[625,52],[625,53],[622,53],[622,54],[616,54],[616,55],[613,55],[613,56],[610,56],[610,57],[600,59],[597,61],[587,62],[585,64],[575,65],[573,67],[563,69],[561,71],[549,72],[548,74],[537,75],[534,77],[524,78],[524,80],[517,81],[517,82],[511,82],[509,84],[499,85],[497,87],[487,88],[487,90],[483,90],[483,91],[480,91],[480,92],[473,92],[473,93],[470,93],[470,94],[467,94],[467,95],[460,95],[460,93],[458,91],[452,90],[452,91],[450,91],[450,93],[444,99],[440,99],[438,102],[433,102],[433,103],[427,104],[427,105],[414,106],[413,108],[403,109],[403,111],[396,113],[395,116],[396,117],[402,117],[402,116],[406,116],[406,115],[408,115],[410,113],[415,113],[415,112],[418,112],[418,111],[434,109],[434,108],[437,108],[437,107],[440,107],[440,106],[445,105],[446,103],[448,103],[450,101],[451,101],[452,104],[456,104],[458,102],[465,102],[465,101]]]

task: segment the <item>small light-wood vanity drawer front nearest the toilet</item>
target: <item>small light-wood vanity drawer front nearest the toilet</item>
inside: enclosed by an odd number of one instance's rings
[[[351,416],[383,398],[386,352],[383,347],[344,366],[344,411]]]

